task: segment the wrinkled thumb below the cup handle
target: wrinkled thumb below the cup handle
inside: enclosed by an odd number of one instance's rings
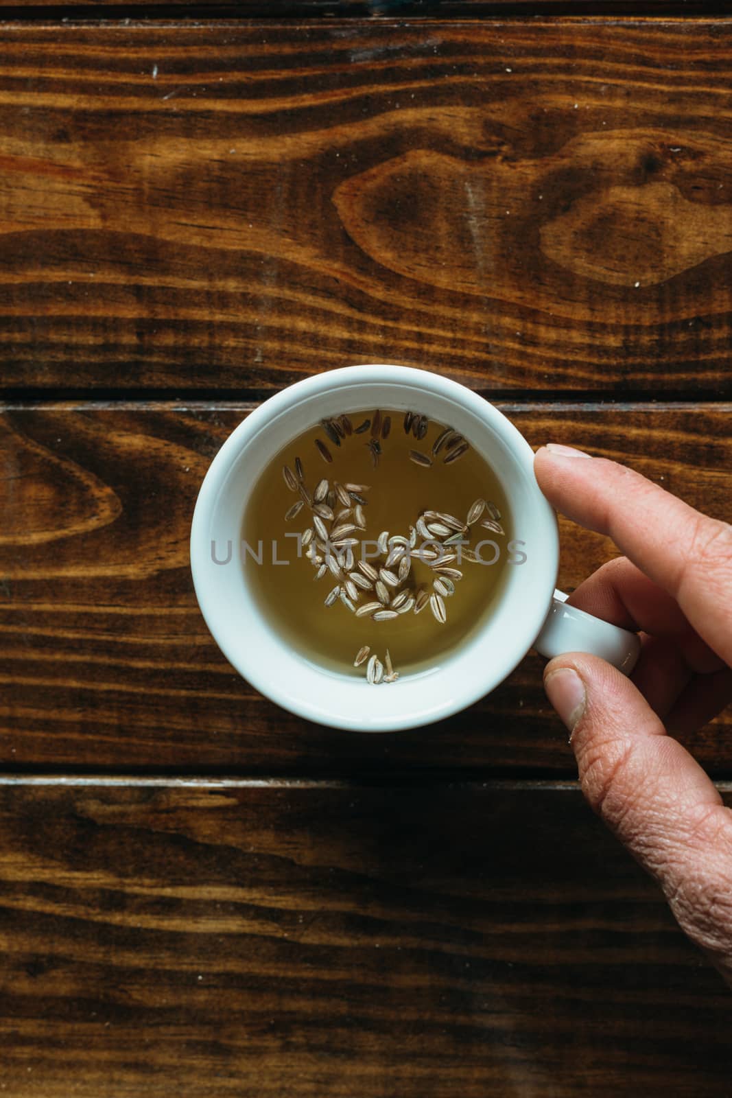
[[[732,811],[640,691],[605,660],[556,657],[544,687],[571,731],[587,800],[732,984]]]

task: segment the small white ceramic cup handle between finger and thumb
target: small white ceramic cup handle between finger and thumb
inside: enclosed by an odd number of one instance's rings
[[[563,591],[554,592],[547,619],[533,642],[537,651],[550,660],[564,652],[588,652],[629,675],[641,650],[638,634],[567,606],[566,597]]]

